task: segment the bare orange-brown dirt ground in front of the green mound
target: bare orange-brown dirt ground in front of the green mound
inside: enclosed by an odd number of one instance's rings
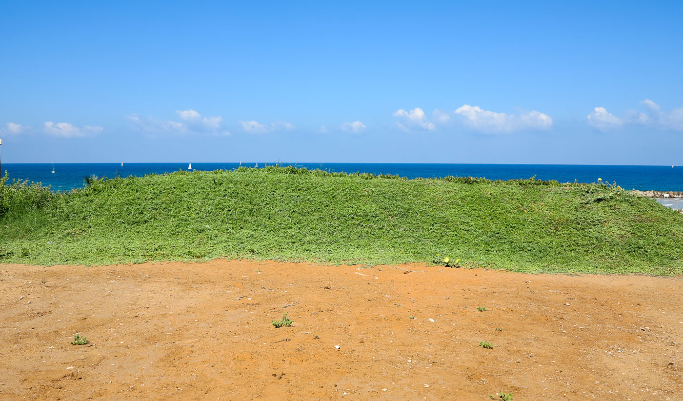
[[[682,301],[680,278],[5,264],[0,398],[683,400]]]

